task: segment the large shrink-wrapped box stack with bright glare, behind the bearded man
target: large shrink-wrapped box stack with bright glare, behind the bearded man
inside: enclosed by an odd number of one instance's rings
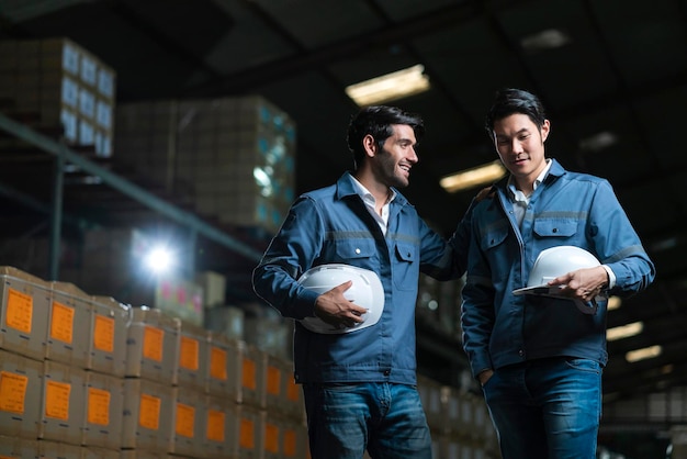
[[[295,123],[259,96],[117,107],[116,156],[199,213],[273,233],[294,199]]]

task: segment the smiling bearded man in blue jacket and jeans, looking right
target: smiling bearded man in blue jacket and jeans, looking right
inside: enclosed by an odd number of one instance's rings
[[[420,272],[439,280],[463,273],[469,213],[446,242],[399,193],[423,134],[416,114],[362,109],[348,127],[354,170],[301,195],[254,271],[256,293],[296,320],[294,377],[303,384],[313,459],[360,459],[365,449],[373,458],[431,458],[416,388],[418,280]],[[344,295],[350,281],[324,293],[299,283],[328,264],[379,277],[384,306],[374,325],[363,328],[367,309]],[[314,317],[342,333],[306,328]]]

